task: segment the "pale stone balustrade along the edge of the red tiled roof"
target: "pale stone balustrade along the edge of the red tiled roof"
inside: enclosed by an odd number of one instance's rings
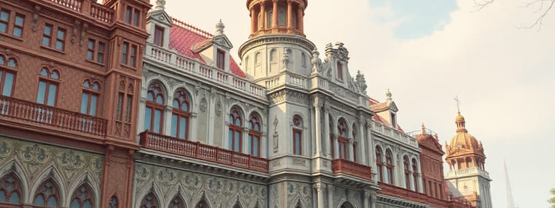
[[[263,86],[251,83],[244,78],[234,76],[229,71],[216,69],[216,67],[210,67],[196,60],[191,60],[182,55],[178,55],[175,51],[169,51],[160,46],[147,44],[146,56],[158,62],[174,66],[179,71],[194,74],[195,76],[201,76],[210,82],[225,85],[232,89],[239,89],[237,91],[244,92],[245,94],[254,96],[255,98],[261,98],[264,100],[267,99],[266,89],[264,89]]]

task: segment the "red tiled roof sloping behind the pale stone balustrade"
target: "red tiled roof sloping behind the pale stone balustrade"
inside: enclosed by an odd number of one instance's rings
[[[194,53],[191,49],[196,44],[207,42],[212,38],[212,34],[202,31],[194,26],[189,26],[178,19],[172,18],[174,21],[169,33],[169,49],[176,50],[180,55],[206,64],[205,60],[198,53]],[[245,73],[241,70],[237,62],[230,55],[230,71],[235,76],[246,78]]]

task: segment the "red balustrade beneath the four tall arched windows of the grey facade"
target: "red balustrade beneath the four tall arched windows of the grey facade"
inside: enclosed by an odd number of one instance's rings
[[[144,148],[268,173],[268,159],[148,131],[142,132],[140,136],[140,144]]]

